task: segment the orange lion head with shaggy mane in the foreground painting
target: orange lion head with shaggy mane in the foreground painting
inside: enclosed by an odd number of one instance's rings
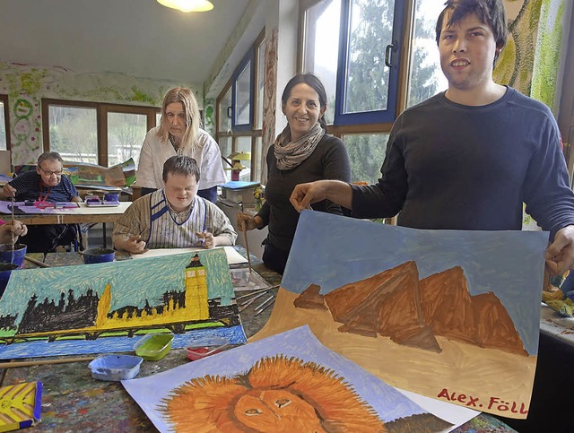
[[[259,359],[244,375],[192,379],[159,410],[178,432],[387,431],[333,370],[283,355]]]

